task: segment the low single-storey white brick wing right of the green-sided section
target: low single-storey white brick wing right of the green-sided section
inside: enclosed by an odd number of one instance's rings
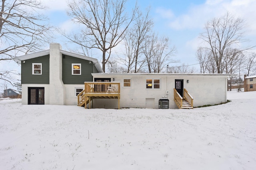
[[[174,102],[176,81],[181,82],[182,88],[194,98],[196,107],[226,102],[227,78],[233,75],[93,73],[92,76],[94,79],[108,78],[111,81],[120,82],[120,107],[158,108],[159,100],[168,98],[169,108],[178,108]],[[152,84],[148,86],[147,81],[150,80]],[[154,80],[157,82],[156,88],[154,88]],[[127,82],[130,82],[129,86]],[[115,101],[116,99],[94,99],[92,107],[117,108],[118,103]]]

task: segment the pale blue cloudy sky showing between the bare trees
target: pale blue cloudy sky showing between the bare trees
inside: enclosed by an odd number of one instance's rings
[[[127,9],[132,8],[135,2],[136,0],[128,0]],[[66,0],[42,0],[42,3],[49,7],[44,11],[44,15],[49,18],[52,25],[66,31],[77,27],[66,14]],[[241,47],[256,45],[256,0],[138,0],[138,6],[140,10],[145,10],[150,6],[154,31],[158,35],[168,36],[171,45],[176,47],[174,59],[180,60],[180,63],[174,65],[195,64],[193,66],[199,69],[195,55],[200,46],[198,36],[204,31],[204,24],[207,21],[223,16],[226,12],[243,18],[247,23],[246,38],[250,41],[241,44]],[[55,35],[56,39],[52,42],[60,43],[63,50],[68,51],[68,48],[73,46],[72,44],[65,45],[67,39],[57,32]],[[49,49],[49,45],[45,49]],[[97,56],[100,61],[101,54],[94,54],[90,57],[97,58]],[[6,67],[4,64],[0,63],[0,67]],[[8,64],[9,67],[20,72],[20,67],[17,68],[12,62]]]

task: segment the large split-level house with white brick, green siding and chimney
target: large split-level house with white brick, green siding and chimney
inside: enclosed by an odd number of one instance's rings
[[[22,104],[85,108],[193,108],[227,101],[234,74],[103,73],[97,59],[50,49],[15,57],[21,63]]]

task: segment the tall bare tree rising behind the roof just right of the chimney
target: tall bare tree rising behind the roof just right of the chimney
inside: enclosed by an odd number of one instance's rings
[[[102,51],[102,69],[110,58],[112,48],[122,41],[130,23],[134,20],[136,6],[130,18],[125,13],[127,0],[73,0],[68,4],[68,15],[74,23],[86,28],[80,33],[66,35],[70,41],[83,48]]]

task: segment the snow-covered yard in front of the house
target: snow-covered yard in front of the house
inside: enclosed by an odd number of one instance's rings
[[[0,170],[252,170],[256,92],[195,109],[84,109],[0,100]]]

